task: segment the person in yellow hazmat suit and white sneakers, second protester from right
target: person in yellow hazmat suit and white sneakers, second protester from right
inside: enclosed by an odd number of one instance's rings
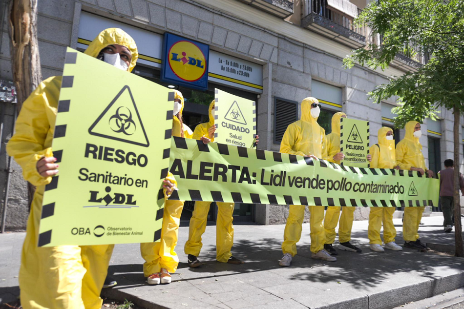
[[[379,144],[371,146],[371,168],[396,168],[395,141],[393,130],[387,126],[379,129]],[[371,207],[369,213],[368,236],[371,250],[384,252],[380,239],[380,227],[383,223],[383,243],[386,249],[401,251],[403,248],[395,243],[396,229],[393,225],[395,207]]]

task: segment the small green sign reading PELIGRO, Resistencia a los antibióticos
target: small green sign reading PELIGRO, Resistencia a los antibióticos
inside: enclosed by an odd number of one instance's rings
[[[369,122],[340,119],[340,151],[345,155],[342,165],[369,167]]]

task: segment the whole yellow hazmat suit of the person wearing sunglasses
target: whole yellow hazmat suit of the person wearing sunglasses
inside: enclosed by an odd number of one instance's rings
[[[280,152],[299,156],[314,155],[317,158],[327,157],[327,140],[325,130],[317,124],[317,118],[311,116],[311,104],[318,103],[315,98],[306,98],[301,102],[301,119],[290,124],[282,137]],[[301,224],[304,218],[302,205],[290,205],[287,224],[284,231],[282,252],[296,254],[296,243],[301,238]],[[311,213],[311,252],[317,253],[324,248],[325,232],[322,226],[324,207],[309,206]]]

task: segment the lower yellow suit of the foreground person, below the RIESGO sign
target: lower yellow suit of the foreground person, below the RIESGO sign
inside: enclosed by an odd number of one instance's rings
[[[19,283],[24,309],[100,309],[114,245],[37,247],[43,187],[32,201]]]

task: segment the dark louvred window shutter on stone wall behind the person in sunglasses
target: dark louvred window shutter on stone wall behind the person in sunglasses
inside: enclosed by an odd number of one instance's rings
[[[298,120],[298,102],[274,97],[274,144],[280,144],[288,125]]]

